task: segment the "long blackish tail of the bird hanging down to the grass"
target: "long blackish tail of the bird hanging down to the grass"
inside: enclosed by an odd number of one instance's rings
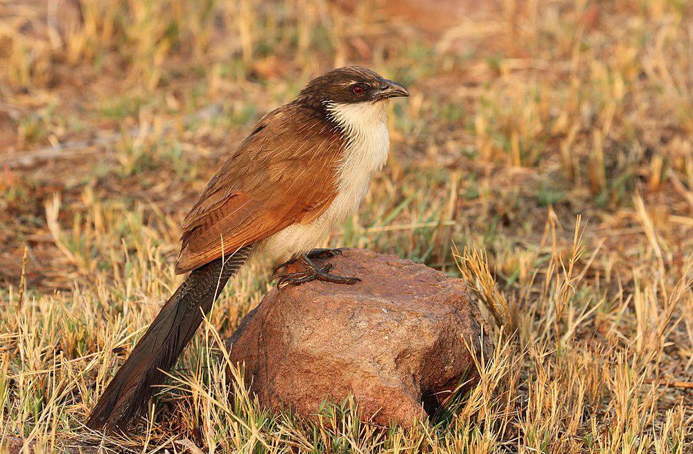
[[[209,312],[229,277],[236,274],[249,254],[247,246],[190,273],[108,384],[89,414],[87,427],[125,428],[147,403],[154,387],[164,383],[166,374],[162,371],[168,372],[175,365],[202,323],[203,314]]]

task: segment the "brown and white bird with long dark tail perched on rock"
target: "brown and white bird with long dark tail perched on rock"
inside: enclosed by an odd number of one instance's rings
[[[358,209],[389,155],[389,101],[407,96],[371,69],[340,67],[258,121],[185,216],[175,272],[189,274],[99,397],[88,428],[126,430],[227,281],[255,256],[281,263],[279,288],[360,281],[330,273],[325,261],[340,250],[314,247]],[[286,272],[297,261],[304,270]]]

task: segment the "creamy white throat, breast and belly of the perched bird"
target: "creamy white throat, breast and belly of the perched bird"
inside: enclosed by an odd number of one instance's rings
[[[340,227],[356,212],[368,192],[371,177],[387,161],[387,101],[326,105],[348,139],[337,166],[337,195],[313,222],[290,225],[263,242],[263,250],[277,261],[308,252]]]

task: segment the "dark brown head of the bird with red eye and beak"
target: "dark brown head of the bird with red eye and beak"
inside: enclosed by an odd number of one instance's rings
[[[301,90],[299,99],[333,104],[373,104],[398,96],[409,96],[409,91],[371,69],[349,66],[333,69],[311,80]]]

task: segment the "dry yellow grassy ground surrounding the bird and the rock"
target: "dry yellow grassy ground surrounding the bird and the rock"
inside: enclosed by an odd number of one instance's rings
[[[385,3],[0,1],[0,444],[691,452],[690,2],[505,0],[438,35]],[[179,221],[207,177],[258,116],[347,62],[412,97],[333,243],[461,273],[499,322],[479,387],[408,431],[349,401],[317,424],[268,414],[236,369],[229,395],[214,353],[267,290],[256,263],[137,435],[87,433],[179,281]]]

